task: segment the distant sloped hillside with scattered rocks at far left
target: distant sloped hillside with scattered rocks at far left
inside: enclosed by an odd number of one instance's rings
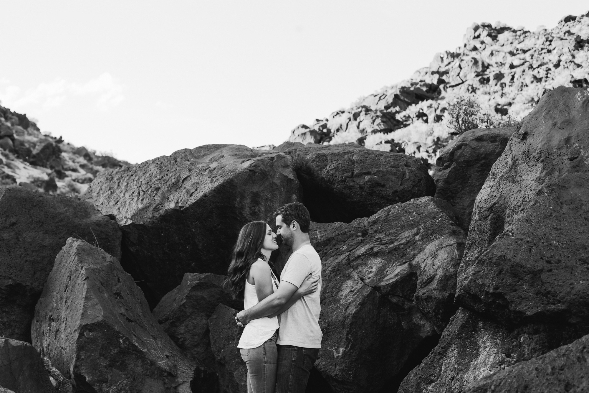
[[[130,165],[44,135],[25,114],[0,106],[0,185],[82,194],[107,169]]]

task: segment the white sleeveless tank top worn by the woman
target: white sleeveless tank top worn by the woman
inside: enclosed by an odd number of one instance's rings
[[[276,292],[276,290],[278,289],[276,285],[277,282],[278,280],[272,272],[273,292]],[[243,309],[250,309],[258,303],[259,302],[257,300],[256,286],[248,283],[246,278],[246,287],[243,291]],[[257,348],[264,342],[266,342],[267,339],[271,338],[274,335],[274,332],[276,332],[276,329],[278,328],[278,317],[276,316],[272,318],[262,317],[258,319],[252,319],[250,320],[250,323],[248,323],[246,327],[243,328],[243,333],[241,333],[241,338],[239,339],[239,344],[237,345],[237,348]]]

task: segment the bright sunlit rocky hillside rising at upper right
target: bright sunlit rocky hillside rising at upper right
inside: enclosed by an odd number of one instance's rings
[[[429,67],[383,87],[348,109],[297,126],[291,142],[356,142],[434,163],[452,138],[445,117],[456,96],[478,100],[498,119],[521,120],[547,91],[589,86],[589,14],[569,15],[535,32],[505,24],[473,24],[464,44],[437,53]]]

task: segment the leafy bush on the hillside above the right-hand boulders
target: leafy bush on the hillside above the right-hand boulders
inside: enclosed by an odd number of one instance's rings
[[[481,105],[471,97],[458,96],[454,103],[449,104],[446,111],[448,127],[461,135],[475,128],[516,127],[521,121],[514,119],[511,114],[499,116],[489,112],[481,112]]]

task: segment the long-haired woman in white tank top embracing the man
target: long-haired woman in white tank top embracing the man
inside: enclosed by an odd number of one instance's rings
[[[248,222],[239,231],[225,283],[236,299],[243,299],[244,309],[253,307],[277,290],[278,280],[269,264],[270,254],[277,248],[276,234],[264,221]],[[307,277],[280,312],[316,290],[317,280]],[[248,393],[274,393],[278,358],[276,330],[279,327],[276,315],[250,321],[241,333],[237,348],[247,366]]]

